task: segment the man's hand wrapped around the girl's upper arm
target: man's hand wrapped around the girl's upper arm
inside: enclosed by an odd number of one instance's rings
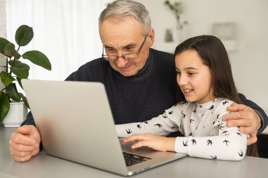
[[[243,104],[233,103],[227,110],[233,112],[223,116],[223,121],[227,121],[227,126],[239,127],[238,130],[241,133],[250,135],[247,145],[255,143],[257,132],[261,127],[259,115],[251,107]]]

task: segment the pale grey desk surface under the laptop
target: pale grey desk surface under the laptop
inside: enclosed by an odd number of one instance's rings
[[[0,177],[123,177],[103,170],[55,158],[40,152],[25,163],[9,153],[15,128],[0,126]],[[131,177],[266,177],[268,159],[245,157],[241,161],[217,161],[185,157]]]

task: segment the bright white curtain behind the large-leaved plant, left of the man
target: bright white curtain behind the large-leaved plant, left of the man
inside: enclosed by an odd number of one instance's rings
[[[31,43],[21,47],[43,52],[52,71],[32,65],[30,79],[64,80],[71,72],[101,57],[98,17],[108,0],[7,0],[7,38],[15,43],[15,31],[22,24],[33,27]],[[17,47],[17,45],[16,45]]]

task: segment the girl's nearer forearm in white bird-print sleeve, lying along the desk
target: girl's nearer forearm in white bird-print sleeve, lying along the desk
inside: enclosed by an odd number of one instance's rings
[[[175,152],[186,153],[191,157],[238,161],[245,157],[247,136],[237,127],[227,127],[220,122],[217,136],[177,137]]]

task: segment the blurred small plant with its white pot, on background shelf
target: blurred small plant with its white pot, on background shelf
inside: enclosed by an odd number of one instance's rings
[[[170,3],[169,0],[164,2],[164,5],[175,15],[176,18],[176,29],[173,30],[173,40],[175,42],[180,42],[182,40],[182,29],[183,25],[187,24],[187,21],[181,21],[181,14],[183,13],[182,10],[182,3],[181,2],[174,2]]]

